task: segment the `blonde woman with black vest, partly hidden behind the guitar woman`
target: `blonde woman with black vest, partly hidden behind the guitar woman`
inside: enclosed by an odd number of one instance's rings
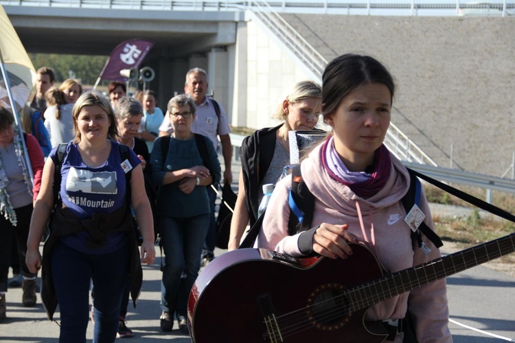
[[[242,143],[238,198],[231,220],[229,250],[240,246],[245,227],[258,220],[258,206],[263,198],[262,185],[275,185],[285,165],[290,164],[290,130],[312,130],[321,114],[322,88],[313,81],[293,85],[277,105],[275,119],[283,121],[275,128],[263,128]]]

